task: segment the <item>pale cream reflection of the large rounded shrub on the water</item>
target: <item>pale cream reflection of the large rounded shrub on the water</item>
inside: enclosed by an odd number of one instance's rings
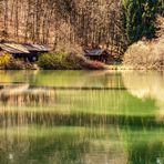
[[[133,78],[132,78],[133,76]],[[156,119],[164,121],[164,74],[163,72],[123,73],[123,82],[129,92],[141,99],[155,101]]]

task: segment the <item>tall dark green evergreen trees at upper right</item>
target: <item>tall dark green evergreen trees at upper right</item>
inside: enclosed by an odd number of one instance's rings
[[[161,0],[123,0],[123,25],[129,43],[155,35],[156,13]]]

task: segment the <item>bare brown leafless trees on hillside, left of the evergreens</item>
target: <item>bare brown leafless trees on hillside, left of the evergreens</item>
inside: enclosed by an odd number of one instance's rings
[[[120,1],[0,0],[1,40],[105,44],[123,51]]]

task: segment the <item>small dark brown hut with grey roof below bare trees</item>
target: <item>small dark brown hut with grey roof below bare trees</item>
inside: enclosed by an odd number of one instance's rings
[[[92,49],[92,50],[84,50],[85,57],[95,60],[101,61],[104,63],[107,63],[110,60],[113,60],[112,55],[103,49]]]

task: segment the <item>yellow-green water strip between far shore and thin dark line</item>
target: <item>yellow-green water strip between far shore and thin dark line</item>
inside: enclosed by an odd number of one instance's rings
[[[39,86],[122,86],[120,73],[107,71],[0,71],[0,82]]]

